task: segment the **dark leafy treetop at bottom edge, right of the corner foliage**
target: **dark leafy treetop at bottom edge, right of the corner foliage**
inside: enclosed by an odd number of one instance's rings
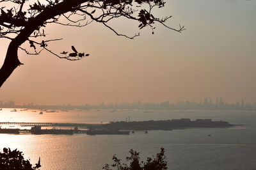
[[[164,170],[167,169],[167,162],[165,161],[164,148],[161,148],[160,153],[157,153],[156,157],[148,157],[146,162],[140,162],[140,153],[134,150],[130,150],[130,157],[126,157],[126,160],[130,162],[129,166],[127,164],[122,164],[121,160],[113,156],[114,164],[111,167],[115,167],[118,170]],[[106,164],[102,169],[112,170],[109,164]]]

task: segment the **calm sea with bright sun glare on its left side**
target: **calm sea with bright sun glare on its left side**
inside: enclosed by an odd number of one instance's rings
[[[168,169],[256,169],[256,111],[187,111],[90,109],[44,112],[3,109],[1,122],[108,123],[190,118],[228,121],[235,127],[152,130],[130,135],[0,134],[0,150],[17,149],[31,164],[40,157],[40,169],[102,169],[113,155],[127,163],[129,150],[141,160],[164,148]],[[1,125],[2,128],[6,125]]]

